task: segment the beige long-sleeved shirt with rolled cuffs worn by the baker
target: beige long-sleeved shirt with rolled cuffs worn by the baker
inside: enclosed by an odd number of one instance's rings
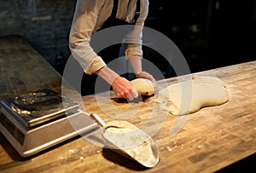
[[[119,0],[116,18],[131,23],[137,9],[137,0]],[[73,57],[79,61],[84,72],[91,74],[106,66],[102,57],[90,46],[90,37],[101,28],[111,15],[113,0],[78,0],[73,24],[70,30],[69,47]],[[140,16],[137,19],[134,31],[125,39],[125,56],[140,55],[142,50],[143,24],[148,15],[148,0],[140,1]]]

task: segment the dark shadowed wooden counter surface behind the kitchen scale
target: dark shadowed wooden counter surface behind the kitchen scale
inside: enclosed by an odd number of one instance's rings
[[[0,78],[0,99],[42,88],[61,91],[61,75],[23,37],[0,37]]]

